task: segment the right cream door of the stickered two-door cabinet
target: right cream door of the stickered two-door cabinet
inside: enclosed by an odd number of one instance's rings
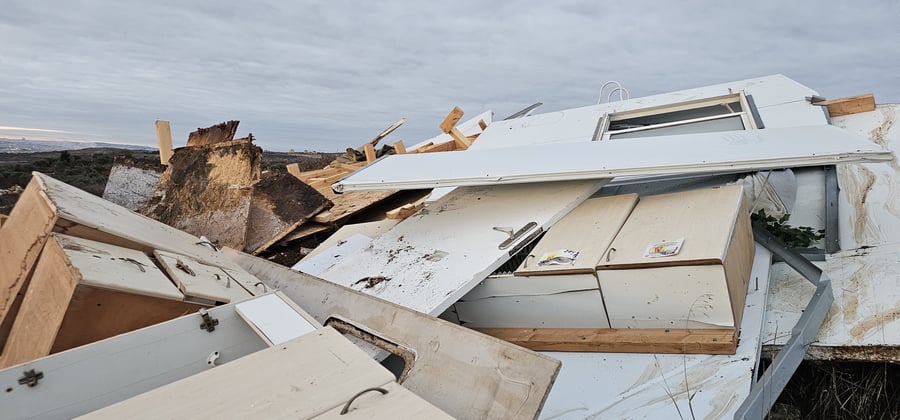
[[[742,201],[738,185],[641,197],[597,268],[721,264]],[[644,257],[651,244],[679,239],[678,254]]]

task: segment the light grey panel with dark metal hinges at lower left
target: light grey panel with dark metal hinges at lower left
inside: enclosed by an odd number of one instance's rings
[[[110,339],[0,370],[4,419],[62,419],[131,398],[266,348],[238,316],[234,305],[208,309],[219,320],[212,333],[200,329],[199,314],[187,315]],[[35,387],[18,383],[35,369]]]

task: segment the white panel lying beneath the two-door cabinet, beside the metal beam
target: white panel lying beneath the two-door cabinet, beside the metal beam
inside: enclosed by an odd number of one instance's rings
[[[755,255],[737,353],[545,353],[563,367],[541,418],[677,419],[679,412],[684,418],[734,417],[756,379],[766,306],[771,254],[757,246]]]

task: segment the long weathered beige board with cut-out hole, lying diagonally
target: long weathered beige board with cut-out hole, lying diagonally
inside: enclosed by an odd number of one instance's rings
[[[455,418],[535,418],[556,360],[261,258],[225,250],[320,322],[339,318],[415,353],[401,384]]]

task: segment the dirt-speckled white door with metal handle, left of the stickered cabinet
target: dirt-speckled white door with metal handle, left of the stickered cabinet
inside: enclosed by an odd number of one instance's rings
[[[460,155],[468,154],[459,153]],[[509,259],[508,235],[546,229],[603,185],[598,181],[458,188],[321,274],[333,283],[438,315]],[[370,284],[367,278],[384,277]]]

